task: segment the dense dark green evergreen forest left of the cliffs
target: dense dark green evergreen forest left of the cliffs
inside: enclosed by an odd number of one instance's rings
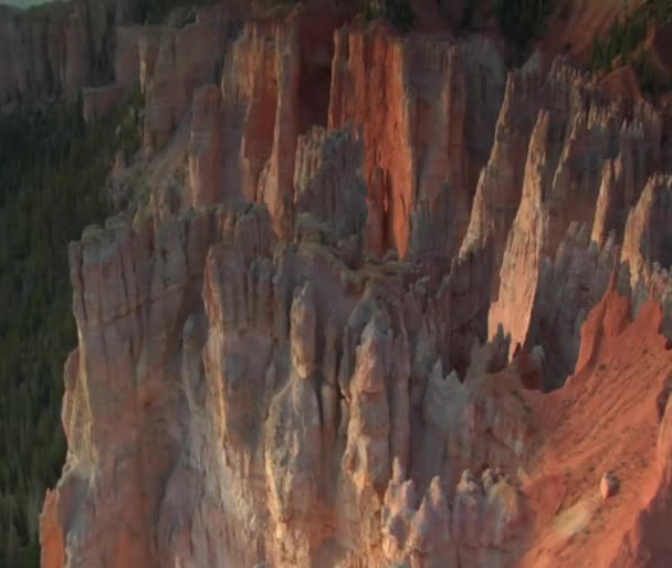
[[[76,345],[67,243],[104,219],[138,98],[85,125],[81,104],[0,115],[0,567],[40,564],[39,513],[64,462],[63,364]]]

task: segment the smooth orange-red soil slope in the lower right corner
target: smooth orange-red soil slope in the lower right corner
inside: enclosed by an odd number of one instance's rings
[[[524,491],[535,523],[522,568],[672,566],[664,539],[651,535],[661,519],[644,518],[669,483],[657,453],[657,398],[672,372],[661,322],[654,302],[631,322],[630,302],[612,284],[584,325],[567,387],[526,391],[536,432]],[[607,471],[618,475],[620,491],[602,501]]]

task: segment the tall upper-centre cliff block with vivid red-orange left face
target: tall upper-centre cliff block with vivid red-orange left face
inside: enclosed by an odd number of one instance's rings
[[[364,125],[368,250],[405,256],[416,208],[444,212],[447,199],[459,244],[503,95],[496,48],[485,39],[456,44],[358,27],[339,30],[335,44],[329,126]],[[443,221],[433,229],[450,259],[455,244]]]

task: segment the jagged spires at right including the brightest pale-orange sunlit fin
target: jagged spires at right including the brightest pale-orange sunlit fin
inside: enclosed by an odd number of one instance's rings
[[[550,346],[559,333],[557,326],[564,327],[564,345],[555,351],[565,355],[553,364],[553,372],[563,377],[571,372],[580,324],[618,261],[612,249],[623,242],[628,211],[660,167],[662,117],[645,103],[609,98],[589,76],[563,60],[556,61],[540,87],[539,101],[511,230],[506,232],[506,213],[496,209],[492,198],[490,203],[476,199],[472,234],[507,234],[501,265],[494,269],[500,280],[494,281],[498,292],[490,312],[490,334],[502,324],[512,334],[512,348],[519,343],[529,349],[535,344]],[[574,229],[573,223],[577,223]],[[587,231],[597,244],[594,252]],[[568,254],[567,246],[577,242],[579,233],[585,252],[576,249],[578,256]],[[468,238],[463,251],[474,246],[477,239]],[[601,260],[590,264],[578,260],[587,259],[586,254]],[[599,276],[585,276],[596,263]],[[567,275],[564,270],[571,264],[576,267]],[[563,282],[569,277],[564,292],[553,284],[549,269]]]

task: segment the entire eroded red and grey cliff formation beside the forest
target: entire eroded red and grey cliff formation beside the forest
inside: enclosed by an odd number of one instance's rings
[[[188,175],[70,248],[43,566],[669,558],[664,117],[490,39],[239,8],[119,32],[148,179]]]

